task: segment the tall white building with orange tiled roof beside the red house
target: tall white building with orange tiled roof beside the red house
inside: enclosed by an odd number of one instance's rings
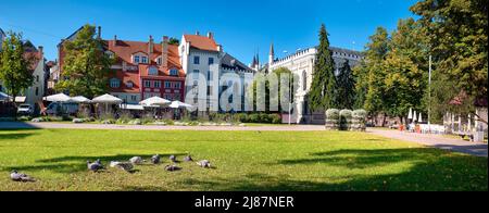
[[[242,108],[220,108],[223,102],[222,95],[229,95],[239,85],[242,89],[239,97],[237,92],[229,96],[233,99],[244,100],[244,86],[253,80],[253,70],[224,52],[217,45],[214,35],[206,36],[184,35],[179,46],[180,63],[187,75],[186,102],[198,106],[199,112],[241,111]],[[202,89],[199,83],[206,83]],[[239,83],[239,84],[237,84]],[[238,103],[233,102],[231,103]],[[244,101],[240,101],[240,106]]]

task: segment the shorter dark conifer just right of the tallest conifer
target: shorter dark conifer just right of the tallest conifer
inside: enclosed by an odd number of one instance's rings
[[[348,60],[344,61],[338,75],[338,108],[353,109],[355,103],[355,79]]]

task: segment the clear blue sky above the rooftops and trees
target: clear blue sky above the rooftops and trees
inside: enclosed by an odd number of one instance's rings
[[[268,58],[269,43],[277,57],[317,43],[326,24],[333,46],[362,50],[377,26],[396,28],[412,16],[417,0],[22,0],[4,1],[0,28],[23,32],[43,46],[48,60],[57,58],[57,43],[79,26],[102,26],[102,37],[160,41],[163,35],[180,38],[199,30],[215,34],[224,50],[244,63],[260,51]],[[184,2],[184,3],[183,3]]]

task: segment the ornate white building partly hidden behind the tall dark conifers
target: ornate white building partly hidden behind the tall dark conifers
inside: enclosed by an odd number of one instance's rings
[[[363,59],[363,54],[358,51],[346,50],[340,48],[330,48],[333,59],[335,60],[336,74],[339,74],[339,68],[349,61],[350,66],[358,65]],[[274,46],[272,45],[268,55],[268,72],[273,72],[279,67],[289,68],[296,76],[299,76],[299,90],[296,93],[296,116],[292,116],[293,123],[305,124],[324,124],[324,112],[311,112],[308,104],[306,95],[311,90],[314,74],[314,63],[316,60],[317,49],[309,48],[300,50],[293,54],[287,55],[283,59],[275,59]]]

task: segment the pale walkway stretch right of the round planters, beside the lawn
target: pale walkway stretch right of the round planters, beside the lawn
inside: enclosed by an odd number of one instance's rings
[[[477,156],[488,156],[487,143],[469,142],[462,139],[447,138],[438,135],[422,135],[401,133],[398,130],[368,129],[368,133],[403,141],[417,142],[428,147],[435,147],[454,152],[462,152]]]

